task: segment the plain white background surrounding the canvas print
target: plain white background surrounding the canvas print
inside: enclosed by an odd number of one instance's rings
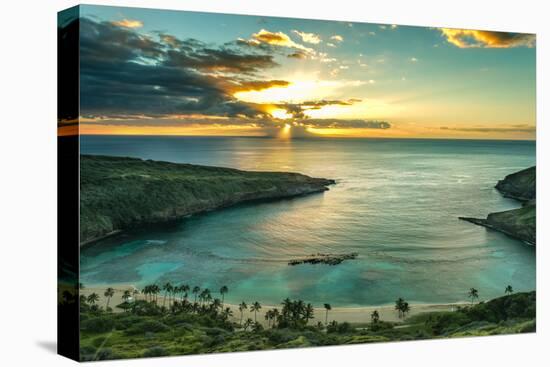
[[[545,1],[142,0],[96,4],[537,33],[536,335],[109,362],[112,366],[529,366],[548,363],[549,9]],[[0,364],[70,365],[56,340],[56,12],[75,1],[0,2]],[[545,24],[546,23],[546,24]],[[513,88],[511,85],[510,88]],[[545,113],[546,112],[546,113]],[[545,190],[545,188],[547,190]],[[547,224],[548,225],[548,224]],[[100,362],[97,366],[107,365]],[[545,364],[548,365],[548,364]]]

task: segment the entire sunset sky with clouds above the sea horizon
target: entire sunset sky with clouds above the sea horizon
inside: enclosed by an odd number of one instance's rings
[[[532,34],[81,6],[80,132],[535,139],[535,58]]]

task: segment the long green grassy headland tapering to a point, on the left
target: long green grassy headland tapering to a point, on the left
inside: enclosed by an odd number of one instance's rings
[[[80,158],[81,243],[239,202],[327,190],[332,180],[135,158]]]

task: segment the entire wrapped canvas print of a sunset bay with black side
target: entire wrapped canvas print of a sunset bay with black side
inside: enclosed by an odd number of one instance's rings
[[[59,350],[536,329],[534,34],[59,13]]]

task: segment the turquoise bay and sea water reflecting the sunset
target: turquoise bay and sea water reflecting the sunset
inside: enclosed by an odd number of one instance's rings
[[[92,137],[82,153],[336,179],[323,194],[240,205],[141,228],[81,252],[85,285],[171,281],[231,302],[286,297],[333,306],[480,298],[535,288],[535,250],[462,222],[518,207],[493,189],[535,164],[533,142]],[[338,266],[288,266],[317,252],[358,252]]]

